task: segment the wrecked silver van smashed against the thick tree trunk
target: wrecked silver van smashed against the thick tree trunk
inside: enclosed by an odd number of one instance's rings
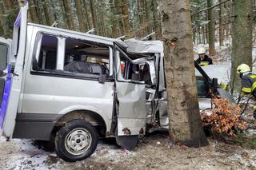
[[[162,42],[27,23],[27,10],[14,23],[14,61],[1,78],[2,136],[52,140],[58,156],[76,161],[94,152],[99,137],[130,149],[146,125],[168,125]],[[195,66],[198,95],[210,97],[216,81]]]

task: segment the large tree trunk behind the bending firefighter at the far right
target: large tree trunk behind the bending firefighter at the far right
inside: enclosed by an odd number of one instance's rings
[[[242,63],[251,65],[252,62],[252,5],[252,0],[234,0],[231,54],[233,91],[239,91],[241,87],[241,80],[236,73],[238,65]]]

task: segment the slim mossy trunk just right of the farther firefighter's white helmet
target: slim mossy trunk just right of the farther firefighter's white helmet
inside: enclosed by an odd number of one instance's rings
[[[213,0],[207,0],[208,8],[214,6]],[[209,53],[215,55],[215,28],[214,28],[214,8],[208,10],[208,30],[209,30]]]

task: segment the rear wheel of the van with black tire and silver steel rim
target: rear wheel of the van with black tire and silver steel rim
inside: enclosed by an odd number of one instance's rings
[[[67,122],[56,134],[55,149],[68,162],[84,160],[95,151],[98,132],[93,125],[82,119]]]

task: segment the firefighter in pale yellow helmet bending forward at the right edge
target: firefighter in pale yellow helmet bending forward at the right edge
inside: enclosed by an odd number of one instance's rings
[[[242,64],[238,66],[237,73],[242,80],[242,93],[252,94],[256,97],[256,75],[250,71],[250,66]],[[256,105],[254,105],[254,119],[256,119]]]

